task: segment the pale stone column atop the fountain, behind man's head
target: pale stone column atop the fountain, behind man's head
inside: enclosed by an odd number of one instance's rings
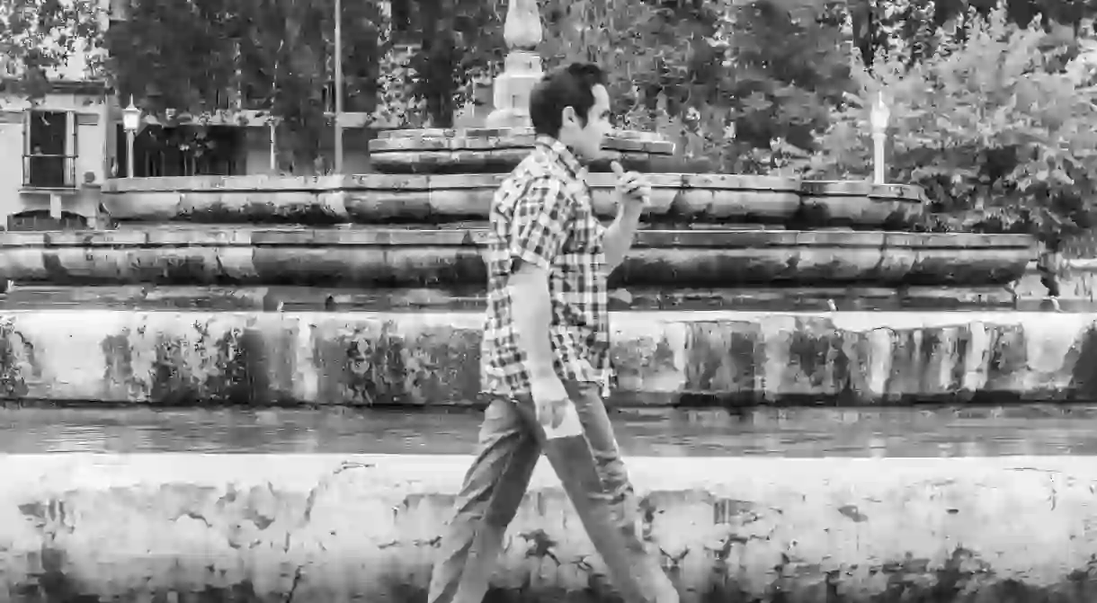
[[[487,127],[529,127],[530,92],[541,81],[541,15],[538,0],[509,0],[502,30],[507,58],[502,73],[495,78],[493,104]]]

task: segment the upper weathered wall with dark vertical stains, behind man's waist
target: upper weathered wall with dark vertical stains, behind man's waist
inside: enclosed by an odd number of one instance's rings
[[[0,312],[9,398],[464,405],[480,312]],[[614,312],[614,403],[1097,397],[1097,315]]]

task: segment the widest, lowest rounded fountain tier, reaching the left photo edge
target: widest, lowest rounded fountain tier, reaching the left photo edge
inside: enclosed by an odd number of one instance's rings
[[[19,283],[475,286],[483,229],[172,226],[0,235]],[[611,286],[1000,285],[1033,257],[1024,235],[645,230]]]

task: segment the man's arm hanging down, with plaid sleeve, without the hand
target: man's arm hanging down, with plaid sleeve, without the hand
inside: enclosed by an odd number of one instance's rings
[[[552,263],[570,232],[575,206],[562,182],[540,179],[514,207],[510,257],[514,271],[509,281],[518,348],[534,379],[556,377],[548,325],[552,304],[548,275]]]

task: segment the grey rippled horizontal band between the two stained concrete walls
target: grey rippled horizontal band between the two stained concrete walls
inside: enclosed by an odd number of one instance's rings
[[[0,408],[0,454],[470,454],[475,411]],[[1097,406],[618,411],[630,456],[949,457],[1097,454]]]

